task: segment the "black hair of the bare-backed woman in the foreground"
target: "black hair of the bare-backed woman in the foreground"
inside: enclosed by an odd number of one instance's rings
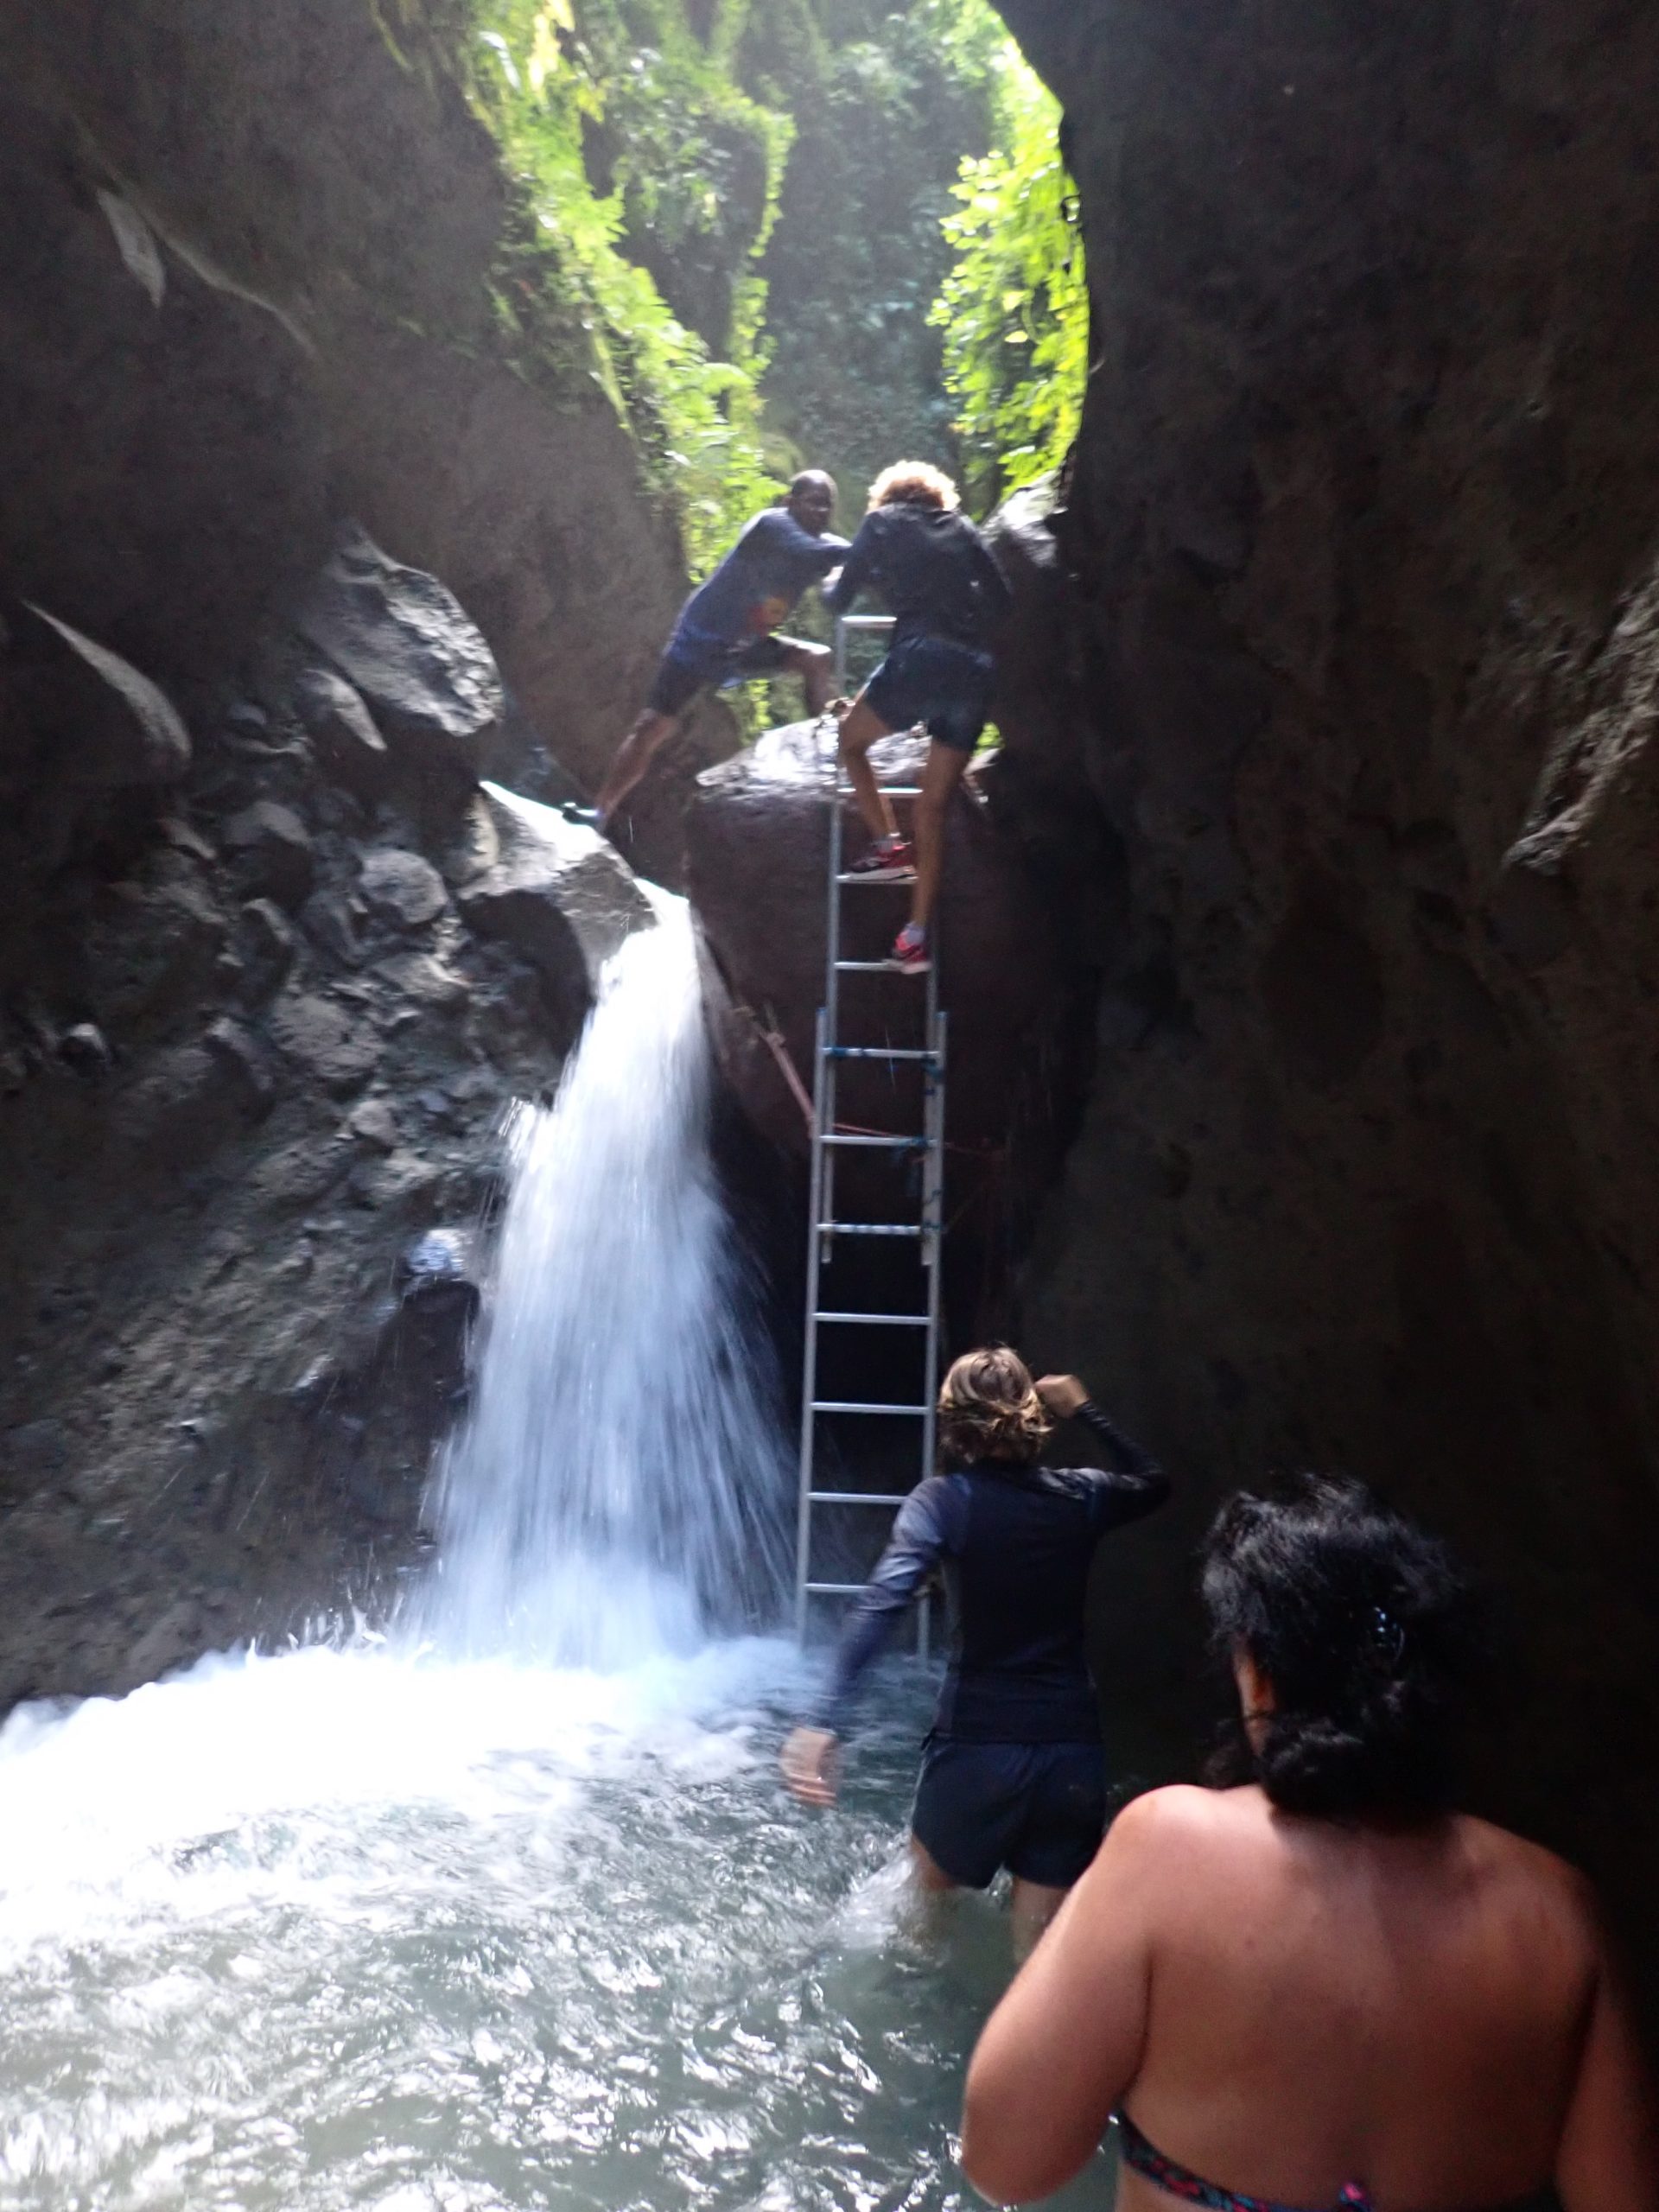
[[[1203,1601],[1219,1655],[1243,1648],[1274,1694],[1261,1747],[1239,1723],[1212,1778],[1334,1818],[1453,1803],[1478,1630],[1438,1537],[1360,1482],[1305,1475],[1285,1500],[1243,1493],[1221,1509]]]

